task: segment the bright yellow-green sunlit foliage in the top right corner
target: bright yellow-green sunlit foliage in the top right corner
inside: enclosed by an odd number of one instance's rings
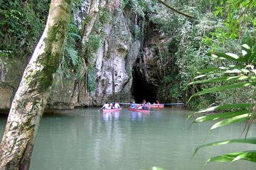
[[[215,1],[218,6],[215,8],[214,14],[224,20],[223,27],[212,33],[215,38],[222,39],[225,42],[230,38],[239,38],[241,33],[253,33],[255,35],[255,1]]]

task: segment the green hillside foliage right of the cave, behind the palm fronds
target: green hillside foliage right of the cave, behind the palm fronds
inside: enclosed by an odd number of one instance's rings
[[[201,1],[202,2],[202,1]],[[222,84],[222,82],[214,82],[214,84],[200,84],[191,86],[186,89],[186,84],[191,82],[193,77],[196,77],[195,73],[198,69],[208,68],[210,65],[226,64],[225,61],[215,60],[208,55],[205,55],[206,51],[213,49],[215,51],[233,51],[238,52],[239,41],[232,40],[225,37],[227,31],[225,31],[225,23],[223,23],[222,18],[215,17],[212,11],[206,11],[206,13],[201,13],[199,10],[203,8],[214,9],[216,4],[201,4],[198,1],[197,6],[191,8],[186,4],[182,7],[183,11],[191,11],[195,13],[198,20],[191,20],[183,16],[174,16],[172,13],[167,13],[161,10],[157,15],[152,16],[150,19],[156,24],[156,30],[163,31],[165,37],[169,37],[169,54],[167,60],[164,60],[164,55],[157,55],[163,59],[163,63],[172,64],[171,67],[166,67],[164,72],[169,77],[175,77],[176,84],[179,84],[181,89],[180,93],[191,94],[193,91],[198,91],[201,89],[210,88],[215,84]],[[179,3],[171,1],[172,6],[179,6]],[[206,10],[206,9],[204,9]],[[190,13],[191,13],[190,12]],[[203,14],[203,15],[202,15]],[[161,44],[162,45],[162,44]],[[168,60],[169,59],[169,60]],[[171,61],[172,60],[172,61]],[[234,61],[235,62],[235,61]],[[170,69],[171,68],[171,69]],[[170,82],[171,83],[171,82]],[[202,96],[197,98],[192,98],[188,106],[193,109],[198,109],[199,107],[206,107],[212,103],[212,101],[231,101],[232,98],[238,98],[238,94],[234,90],[226,91],[225,93],[209,94],[206,99]],[[247,96],[247,93],[243,92],[240,94],[242,96]]]

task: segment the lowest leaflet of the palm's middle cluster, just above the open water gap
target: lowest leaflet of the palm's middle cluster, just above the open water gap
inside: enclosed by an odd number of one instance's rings
[[[235,117],[232,117],[232,118],[228,118],[228,119],[225,119],[225,120],[222,120],[218,123],[215,123],[211,128],[210,130],[213,130],[215,128],[220,128],[222,126],[225,126],[225,125],[230,125],[232,123],[239,123],[239,122],[242,122],[242,121],[245,121],[245,120],[248,120],[250,119],[250,113],[246,113],[246,114],[243,114],[243,115],[237,115]]]

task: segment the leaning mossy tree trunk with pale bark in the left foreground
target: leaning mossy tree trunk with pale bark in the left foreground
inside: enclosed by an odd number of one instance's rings
[[[46,28],[11,104],[0,148],[0,169],[29,169],[38,125],[68,32],[72,0],[52,0]]]

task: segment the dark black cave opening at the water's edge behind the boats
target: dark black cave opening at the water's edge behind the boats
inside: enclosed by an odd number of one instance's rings
[[[139,75],[137,69],[134,68],[133,88],[132,95],[134,96],[135,103],[142,103],[145,99],[146,102],[156,102],[156,88],[150,86],[146,79]]]

